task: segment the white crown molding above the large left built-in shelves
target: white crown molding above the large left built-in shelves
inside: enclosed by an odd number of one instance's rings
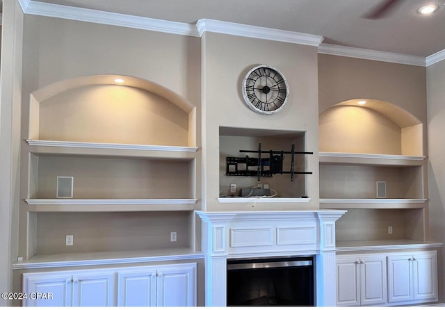
[[[21,0],[27,1],[27,0]],[[93,22],[112,26],[122,26],[143,30],[174,33],[179,35],[199,36],[193,24],[169,22],[161,19],[125,15],[120,13],[104,12],[87,8],[74,8],[72,6],[60,6],[58,4],[31,1],[24,13],[46,17],[78,20],[81,22]]]

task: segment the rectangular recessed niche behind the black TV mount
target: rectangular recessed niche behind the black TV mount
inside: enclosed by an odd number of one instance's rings
[[[307,202],[310,197],[307,197],[306,178],[312,177],[307,170],[307,156],[314,156],[312,154],[298,154],[299,152],[307,152],[305,148],[305,131],[283,131],[283,130],[266,130],[266,129],[243,129],[232,127],[220,127],[220,198],[222,203],[243,202],[243,199],[254,199],[252,201],[261,202]],[[270,151],[284,151],[284,159],[282,161],[283,174],[277,173],[271,176],[261,176],[260,180],[257,177],[257,165],[250,165],[249,167],[241,162],[236,165],[227,165],[227,158],[252,158],[256,161],[259,158],[258,149],[261,143],[261,160],[268,162],[270,158]],[[291,147],[294,145],[294,161],[293,161],[293,181],[291,181]],[[243,151],[243,152],[240,152]],[[252,151],[252,152],[245,152]],[[273,156],[281,156],[279,153],[274,153]],[[266,164],[268,165],[268,164]],[[268,173],[270,167],[266,166],[264,172]],[[233,171],[232,171],[233,170]],[[227,174],[227,172],[234,172],[234,170],[249,170],[250,176]],[[236,193],[230,193],[230,185],[236,184]],[[250,190],[258,185],[268,187],[270,189],[270,196],[258,199],[250,197],[239,197],[242,188]],[[270,200],[272,199],[272,200]]]

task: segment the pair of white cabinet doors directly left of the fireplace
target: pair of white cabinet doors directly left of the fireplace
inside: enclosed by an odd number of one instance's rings
[[[118,272],[120,307],[195,307],[196,293],[195,263]]]

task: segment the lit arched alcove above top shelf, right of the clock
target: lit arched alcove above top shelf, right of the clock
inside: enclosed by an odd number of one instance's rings
[[[321,152],[423,156],[423,124],[385,101],[340,102],[319,115],[318,126]]]

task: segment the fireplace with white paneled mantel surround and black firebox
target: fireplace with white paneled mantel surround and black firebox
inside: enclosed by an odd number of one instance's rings
[[[205,298],[207,307],[225,307],[252,303],[259,305],[277,303],[277,300],[288,300],[277,293],[257,293],[250,297],[238,297],[241,286],[238,282],[244,277],[237,276],[233,280],[232,271],[236,273],[236,265],[249,263],[280,263],[292,261],[312,261],[308,266],[300,268],[308,274],[304,284],[297,282],[280,287],[275,291],[287,291],[291,286],[300,286],[303,291],[312,288],[312,293],[305,293],[304,303],[313,306],[336,306],[336,268],[335,268],[335,222],[346,213],[338,210],[300,210],[300,211],[232,211],[232,212],[203,212],[196,211],[202,219],[202,251],[205,254]],[[298,259],[297,259],[298,258]],[[298,264],[298,263],[295,263]],[[302,263],[303,265],[305,263]],[[253,268],[257,269],[257,268]],[[270,278],[274,272],[262,269],[254,279]],[[298,268],[295,268],[298,269]],[[238,268],[238,270],[243,270]],[[298,270],[288,270],[294,272]],[[257,270],[254,270],[256,273]],[[295,277],[284,274],[284,277]],[[300,276],[298,276],[300,277]],[[247,278],[247,277],[245,277]],[[236,279],[236,278],[235,278]],[[311,279],[313,282],[311,283]],[[235,284],[234,284],[235,282]],[[248,281],[249,282],[249,281]],[[243,285],[248,286],[247,284]],[[274,279],[266,280],[263,286],[277,285]],[[262,286],[252,284],[250,291],[268,291]],[[273,290],[269,290],[273,291]],[[235,300],[232,302],[231,295]],[[249,295],[249,294],[248,294]],[[266,297],[264,297],[266,296]],[[287,302],[287,301],[286,301]],[[291,300],[291,304],[302,304],[303,301]],[[246,304],[247,305],[247,304]]]

